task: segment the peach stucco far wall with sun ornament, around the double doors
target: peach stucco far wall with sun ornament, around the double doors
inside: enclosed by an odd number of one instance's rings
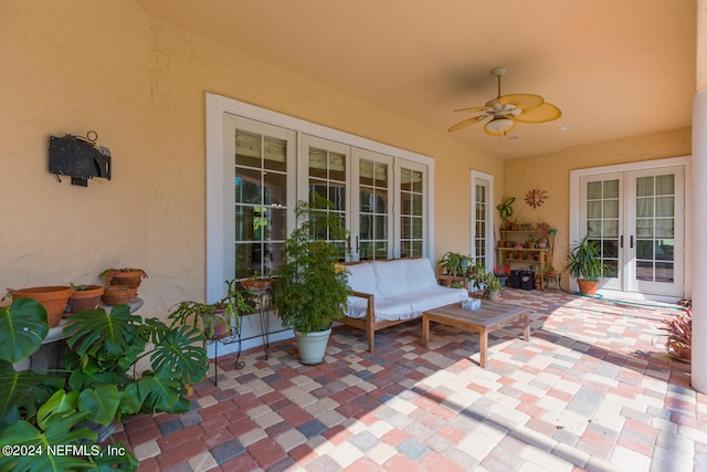
[[[558,234],[553,265],[561,270],[567,265],[569,245],[570,170],[689,156],[690,140],[690,129],[680,129],[597,143],[551,155],[506,160],[504,198],[516,197],[511,221],[547,222],[556,228]],[[526,195],[532,189],[547,192],[545,203],[535,209],[525,201]],[[563,286],[567,287],[564,284]]]

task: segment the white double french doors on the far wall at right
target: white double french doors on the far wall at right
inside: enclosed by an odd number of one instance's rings
[[[683,166],[580,178],[580,235],[601,245],[603,287],[682,296]]]

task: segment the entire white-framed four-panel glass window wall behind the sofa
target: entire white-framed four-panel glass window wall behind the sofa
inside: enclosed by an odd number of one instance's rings
[[[207,94],[207,298],[276,269],[313,192],[345,219],[354,260],[433,259],[433,174],[429,157]]]

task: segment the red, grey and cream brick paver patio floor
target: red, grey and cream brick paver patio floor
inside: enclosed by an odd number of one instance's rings
[[[181,416],[130,418],[139,471],[707,471],[707,396],[664,354],[656,326],[677,313],[558,291],[506,290],[531,308],[489,336],[421,323],[335,329],[325,363],[294,340],[219,359]],[[706,366],[707,367],[707,366]],[[211,370],[213,373],[213,369]]]

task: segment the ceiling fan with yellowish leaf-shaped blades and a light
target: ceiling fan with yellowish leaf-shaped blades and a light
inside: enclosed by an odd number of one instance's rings
[[[498,78],[498,96],[489,99],[484,106],[460,108],[454,112],[478,112],[481,115],[466,118],[452,126],[449,132],[455,132],[475,123],[488,119],[484,132],[492,136],[505,136],[518,122],[546,123],[562,116],[557,106],[549,104],[540,95],[534,94],[500,94],[500,78],[506,75],[506,67],[496,67],[490,73]]]

